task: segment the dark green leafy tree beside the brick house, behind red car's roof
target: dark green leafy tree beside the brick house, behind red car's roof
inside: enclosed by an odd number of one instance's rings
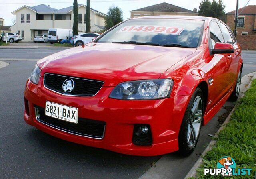
[[[207,17],[213,17],[220,19],[224,21],[225,18],[225,11],[224,11],[225,5],[223,5],[222,0],[203,0],[200,2],[198,15],[199,16],[207,16]]]

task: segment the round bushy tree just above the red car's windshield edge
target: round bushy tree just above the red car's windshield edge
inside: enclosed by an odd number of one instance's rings
[[[105,28],[108,30],[123,21],[123,12],[119,7],[111,6],[105,18]]]

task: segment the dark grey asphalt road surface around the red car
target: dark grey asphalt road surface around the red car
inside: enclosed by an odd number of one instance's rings
[[[10,63],[0,69],[0,179],[137,179],[161,156],[135,157],[82,146],[54,138],[24,122],[24,85],[35,60],[61,50],[63,48],[0,49],[0,61]],[[256,71],[256,51],[242,53],[243,75]],[[210,142],[208,134],[218,130],[217,119],[224,112],[226,109],[222,108],[202,128],[198,146],[190,157],[180,157],[177,153],[165,155],[166,165],[173,173],[170,179],[186,176]]]

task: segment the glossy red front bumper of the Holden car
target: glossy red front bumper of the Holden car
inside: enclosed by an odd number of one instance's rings
[[[42,79],[39,85],[28,80],[24,92],[27,106],[24,120],[39,130],[70,142],[128,155],[155,156],[178,150],[178,132],[190,96],[161,100],[116,100],[108,98],[114,87],[102,87],[93,97],[63,96],[45,89]],[[45,108],[46,100],[78,108],[78,117],[106,122],[104,138],[78,136],[38,122],[34,107]],[[150,126],[151,146],[132,143],[135,124]]]

